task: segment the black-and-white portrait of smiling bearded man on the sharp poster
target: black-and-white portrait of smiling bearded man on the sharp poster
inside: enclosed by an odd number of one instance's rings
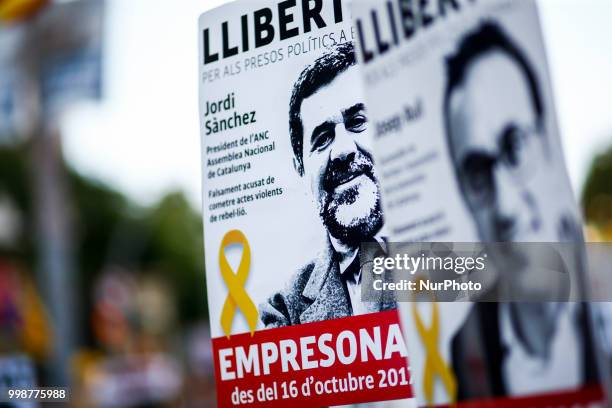
[[[294,84],[289,129],[293,164],[309,185],[327,232],[321,255],[299,268],[260,306],[266,327],[392,309],[361,302],[359,248],[378,242],[384,224],[371,134],[352,43],[337,45],[306,67]]]

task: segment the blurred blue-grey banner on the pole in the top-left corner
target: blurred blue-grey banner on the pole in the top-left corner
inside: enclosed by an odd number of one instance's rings
[[[0,0],[0,142],[29,134],[40,113],[53,119],[102,96],[104,1],[49,2],[36,18],[2,24],[13,3],[39,11],[47,0]]]

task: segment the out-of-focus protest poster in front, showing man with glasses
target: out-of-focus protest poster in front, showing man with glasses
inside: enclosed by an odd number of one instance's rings
[[[391,241],[445,242],[451,252],[523,243],[490,259],[502,274],[487,294],[519,281],[541,243],[573,243],[580,264],[535,2],[356,0],[353,18]],[[514,290],[528,296],[530,286]],[[601,401],[582,303],[471,299],[398,303],[420,406]]]

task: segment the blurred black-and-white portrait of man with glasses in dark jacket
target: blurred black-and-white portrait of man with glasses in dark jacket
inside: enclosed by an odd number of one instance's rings
[[[576,217],[549,210],[555,198],[543,187],[559,177],[547,136],[546,116],[552,107],[528,54],[499,24],[488,21],[460,39],[446,68],[443,110],[449,153],[480,240],[580,241]],[[512,256],[528,260],[531,254]],[[513,282],[502,285],[504,290],[530,290],[528,284],[515,284],[523,272],[507,265],[516,262],[498,261],[506,269],[500,279]],[[476,303],[451,344],[458,399],[528,395],[590,383],[596,368],[586,320],[576,304]],[[474,359],[486,365],[482,381],[474,375]]]

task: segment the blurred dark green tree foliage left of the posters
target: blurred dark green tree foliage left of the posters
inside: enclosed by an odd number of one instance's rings
[[[34,270],[30,166],[35,163],[29,157],[27,145],[0,147],[0,195],[14,202],[23,219],[16,256]],[[105,268],[118,266],[135,274],[156,274],[168,282],[182,323],[206,318],[202,221],[185,196],[172,192],[150,207],[138,206],[119,191],[64,167],[82,316],[91,308],[96,278]]]

